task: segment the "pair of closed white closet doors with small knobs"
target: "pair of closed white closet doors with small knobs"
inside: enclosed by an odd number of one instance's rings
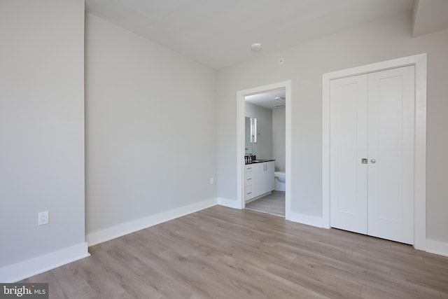
[[[414,66],[330,83],[330,224],[414,243]]]

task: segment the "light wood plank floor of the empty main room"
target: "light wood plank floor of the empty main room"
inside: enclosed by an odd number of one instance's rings
[[[448,298],[448,258],[211,207],[92,246],[24,282],[50,298]]]

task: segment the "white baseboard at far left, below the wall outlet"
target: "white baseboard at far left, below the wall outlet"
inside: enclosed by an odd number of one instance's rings
[[[30,260],[25,260],[17,264],[2,267],[0,268],[0,282],[17,282],[87,256],[90,256],[90,253],[87,251],[87,243],[84,242],[43,256],[37,256],[36,258],[31,258]]]

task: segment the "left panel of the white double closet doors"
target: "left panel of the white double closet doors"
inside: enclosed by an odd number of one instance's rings
[[[367,74],[330,83],[330,225],[367,234]]]

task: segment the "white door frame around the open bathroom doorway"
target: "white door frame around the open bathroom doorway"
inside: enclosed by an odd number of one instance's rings
[[[262,85],[237,92],[237,207],[244,209],[244,120],[245,106],[244,98],[248,95],[255,95],[273,90],[285,90],[286,102],[286,183],[285,183],[285,218],[290,218],[290,162],[291,162],[291,81],[281,81],[268,85]]]

